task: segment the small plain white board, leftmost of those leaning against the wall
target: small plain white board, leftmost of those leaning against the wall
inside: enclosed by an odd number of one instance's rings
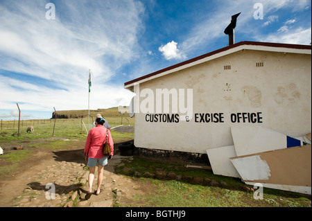
[[[228,145],[220,148],[209,148],[206,150],[208,159],[215,175],[241,178],[230,157],[236,157],[234,145]]]

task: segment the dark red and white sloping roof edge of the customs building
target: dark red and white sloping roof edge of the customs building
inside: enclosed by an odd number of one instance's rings
[[[162,76],[166,76],[169,73],[180,71],[182,69],[187,69],[197,64],[208,62],[210,60],[214,60],[216,58],[220,58],[225,55],[229,55],[231,53],[235,53],[237,51],[242,51],[242,50],[272,51],[272,52],[280,52],[280,53],[301,53],[301,54],[311,55],[311,45],[279,44],[279,43],[268,43],[268,42],[239,42],[239,43],[232,44],[224,48],[220,48],[216,51],[212,51],[205,55],[200,55],[196,58],[192,58],[190,60],[181,62],[179,64],[175,64],[171,67],[167,67],[165,69],[155,71],[146,76],[141,76],[140,78],[136,78],[134,80],[125,82],[124,88],[133,92],[134,85],[141,84],[148,80],[153,80],[155,78],[159,78]]]

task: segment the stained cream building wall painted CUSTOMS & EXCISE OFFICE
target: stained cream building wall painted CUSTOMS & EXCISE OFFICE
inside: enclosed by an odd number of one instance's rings
[[[173,89],[178,98],[179,89],[184,89],[185,102],[187,89],[192,89],[192,113],[183,113],[178,105],[178,112],[172,113],[176,99],[171,99],[167,105],[173,122],[168,117],[159,122],[159,114],[166,112],[156,112],[157,89]],[[268,127],[293,137],[311,132],[311,55],[243,50],[141,83],[139,91],[141,108],[135,116],[139,148],[205,153],[208,148],[233,145],[231,125]],[[188,122],[177,122],[185,115]]]

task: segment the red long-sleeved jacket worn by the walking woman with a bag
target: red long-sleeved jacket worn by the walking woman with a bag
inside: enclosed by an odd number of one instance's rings
[[[102,148],[106,139],[106,131],[107,129],[103,127],[103,125],[96,125],[96,127],[89,130],[87,141],[85,142],[85,156],[89,155],[89,157],[96,159],[101,159],[102,157],[104,157],[102,153]],[[108,130],[108,143],[110,144],[111,154],[113,155],[114,142],[112,140],[110,130]]]

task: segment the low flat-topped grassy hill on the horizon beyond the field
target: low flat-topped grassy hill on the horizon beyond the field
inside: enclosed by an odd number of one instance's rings
[[[121,114],[118,112],[118,107],[111,107],[107,109],[90,109],[91,118],[95,118],[96,114],[101,114],[104,118],[110,116],[121,116]],[[87,109],[57,111],[57,118],[87,118],[87,116]],[[125,113],[124,116],[129,116],[129,114]],[[55,118],[55,112],[52,113],[52,118]]]

